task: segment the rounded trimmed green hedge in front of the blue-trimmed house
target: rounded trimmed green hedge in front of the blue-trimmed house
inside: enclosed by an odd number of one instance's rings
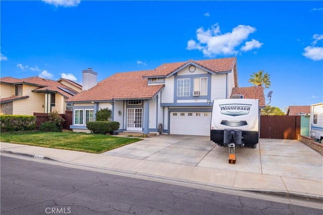
[[[111,121],[87,122],[86,128],[93,134],[112,134],[120,128],[120,123]]]

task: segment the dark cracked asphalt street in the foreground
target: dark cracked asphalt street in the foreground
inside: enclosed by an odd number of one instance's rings
[[[322,214],[323,210],[1,156],[1,214]]]

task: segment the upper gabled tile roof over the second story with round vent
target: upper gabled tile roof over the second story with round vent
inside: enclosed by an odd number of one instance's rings
[[[168,76],[189,63],[196,64],[213,73],[226,72],[226,71],[231,71],[233,69],[236,61],[237,61],[237,58],[232,57],[232,58],[207,59],[207,60],[199,60],[199,61],[189,60],[186,62],[162,64],[159,67],[155,68],[154,70],[149,70],[146,74],[143,75],[143,77]]]

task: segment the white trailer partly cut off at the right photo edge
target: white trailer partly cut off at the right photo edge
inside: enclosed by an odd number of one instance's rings
[[[311,105],[310,137],[321,142],[323,139],[323,102]]]

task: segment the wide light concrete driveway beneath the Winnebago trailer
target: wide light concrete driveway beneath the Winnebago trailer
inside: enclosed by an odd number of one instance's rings
[[[228,147],[213,143],[208,136],[158,135],[103,154],[323,181],[323,156],[298,140],[260,139],[255,149],[236,148],[235,165],[228,163]]]

